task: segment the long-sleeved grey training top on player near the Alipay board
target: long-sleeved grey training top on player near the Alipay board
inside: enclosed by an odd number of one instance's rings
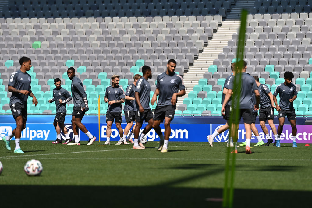
[[[62,100],[62,103],[60,103],[60,99]],[[66,113],[66,103],[71,101],[72,97],[69,92],[64,89],[53,89],[53,98],[51,99],[51,103],[55,101],[56,106],[56,113]]]

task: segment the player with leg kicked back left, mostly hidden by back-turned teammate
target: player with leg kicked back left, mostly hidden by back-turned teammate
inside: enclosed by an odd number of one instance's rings
[[[231,70],[232,70],[232,74],[229,75],[227,77],[227,79],[225,80],[224,82],[224,86],[223,86],[223,94],[222,94],[222,103],[224,101],[224,97],[225,95],[227,94],[227,90],[229,89],[229,85],[232,85],[233,83],[231,82],[231,80],[233,79],[233,77],[235,76],[236,74],[236,63],[232,63],[231,64]],[[232,88],[232,86],[231,86]],[[207,136],[207,139],[208,139],[208,142],[209,142],[209,145],[212,147],[212,142],[213,142],[213,139],[219,135],[220,133],[223,133],[225,132],[227,129],[230,128],[229,126],[229,119],[230,119],[230,115],[232,113],[232,100],[231,98],[229,99],[229,101],[227,102],[227,104],[225,104],[225,114],[223,115],[223,119],[225,119],[227,121],[227,123],[225,123],[222,127],[218,128],[215,130],[215,132],[212,134],[212,135],[208,135]],[[230,147],[233,147],[233,139],[232,137],[230,136],[229,137],[229,140],[227,142],[227,147],[230,146]]]

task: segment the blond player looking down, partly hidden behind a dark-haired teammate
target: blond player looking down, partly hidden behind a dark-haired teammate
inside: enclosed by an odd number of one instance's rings
[[[124,144],[129,144],[127,142],[127,135],[133,125],[133,122],[135,121],[135,113],[137,112],[137,109],[135,105],[134,90],[135,90],[137,81],[141,77],[142,76],[139,74],[134,75],[133,77],[134,82],[128,85],[126,92],[125,92],[124,117],[126,119],[127,126],[124,128]],[[133,128],[135,129],[135,124]],[[131,143],[134,143],[132,138],[129,138],[129,141]]]

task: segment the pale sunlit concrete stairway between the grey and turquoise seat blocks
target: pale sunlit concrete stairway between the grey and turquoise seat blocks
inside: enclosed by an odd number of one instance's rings
[[[227,46],[227,41],[231,40],[233,33],[237,32],[240,23],[240,21],[222,21],[217,32],[208,41],[208,45],[203,48],[203,52],[198,54],[198,59],[194,60],[194,65],[184,74],[183,81],[186,94],[178,99],[177,105],[183,104],[183,99],[188,97],[190,91],[193,91],[194,85],[198,85],[198,80],[203,78],[203,74],[208,72],[208,67],[213,65],[218,54],[223,52],[223,47]]]

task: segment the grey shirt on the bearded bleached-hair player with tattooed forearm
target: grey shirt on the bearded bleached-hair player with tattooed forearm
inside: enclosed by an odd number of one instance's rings
[[[110,85],[106,88],[105,97],[108,98],[108,101],[124,99],[124,89],[122,87],[116,88]],[[108,105],[107,111],[122,112],[121,103],[113,103],[111,105]]]

